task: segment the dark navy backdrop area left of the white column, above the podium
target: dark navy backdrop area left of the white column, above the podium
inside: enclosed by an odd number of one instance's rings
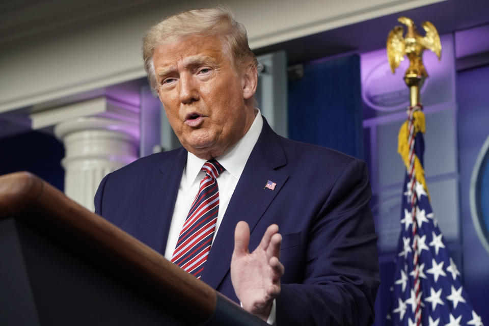
[[[52,135],[30,131],[2,138],[0,152],[0,175],[29,171],[63,191],[65,171],[61,160],[65,150]]]

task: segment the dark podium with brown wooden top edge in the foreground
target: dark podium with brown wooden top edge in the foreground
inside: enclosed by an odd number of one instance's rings
[[[55,187],[0,177],[0,325],[265,325]]]

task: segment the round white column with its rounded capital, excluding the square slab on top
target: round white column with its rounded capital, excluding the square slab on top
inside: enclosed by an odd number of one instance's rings
[[[102,178],[138,158],[134,122],[80,117],[56,125],[55,134],[65,145],[65,194],[92,211]]]

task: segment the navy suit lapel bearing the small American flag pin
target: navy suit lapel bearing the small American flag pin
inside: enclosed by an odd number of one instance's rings
[[[266,120],[243,173],[229,202],[223,221],[212,244],[201,280],[216,289],[229,271],[234,248],[234,228],[246,221],[253,230],[261,216],[288,179],[276,169],[287,164],[282,144]],[[274,190],[265,188],[270,180],[277,185]],[[252,248],[254,249],[254,248]]]

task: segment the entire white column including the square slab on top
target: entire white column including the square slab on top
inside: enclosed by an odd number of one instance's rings
[[[65,145],[65,194],[90,210],[109,172],[138,158],[140,108],[105,96],[51,108],[34,108],[33,129],[55,134]]]

